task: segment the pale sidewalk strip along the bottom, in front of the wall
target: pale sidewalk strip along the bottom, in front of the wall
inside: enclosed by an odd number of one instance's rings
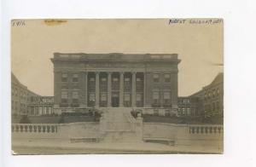
[[[148,142],[79,142],[14,140],[14,154],[81,154],[81,153],[221,153],[218,147],[167,146]]]

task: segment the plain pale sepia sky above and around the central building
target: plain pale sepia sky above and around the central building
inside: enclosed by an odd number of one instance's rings
[[[20,22],[19,22],[20,21]],[[11,69],[38,95],[53,95],[53,53],[178,54],[178,95],[223,72],[223,23],[154,20],[13,20]],[[195,23],[197,21],[197,23]]]

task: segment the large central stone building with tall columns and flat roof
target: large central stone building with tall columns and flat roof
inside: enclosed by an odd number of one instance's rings
[[[55,53],[56,112],[90,107],[177,110],[177,54]]]

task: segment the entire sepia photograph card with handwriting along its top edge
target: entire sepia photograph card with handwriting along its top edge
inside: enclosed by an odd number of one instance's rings
[[[11,147],[224,153],[224,20],[11,21]]]

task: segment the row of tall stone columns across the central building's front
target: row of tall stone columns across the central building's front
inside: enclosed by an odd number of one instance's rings
[[[119,72],[119,107],[124,107],[124,73]],[[131,72],[131,106],[136,107],[136,73]],[[108,107],[112,106],[112,72],[108,72]],[[87,72],[85,72],[85,106],[87,106]],[[96,72],[96,107],[99,107],[100,104],[100,72]]]

